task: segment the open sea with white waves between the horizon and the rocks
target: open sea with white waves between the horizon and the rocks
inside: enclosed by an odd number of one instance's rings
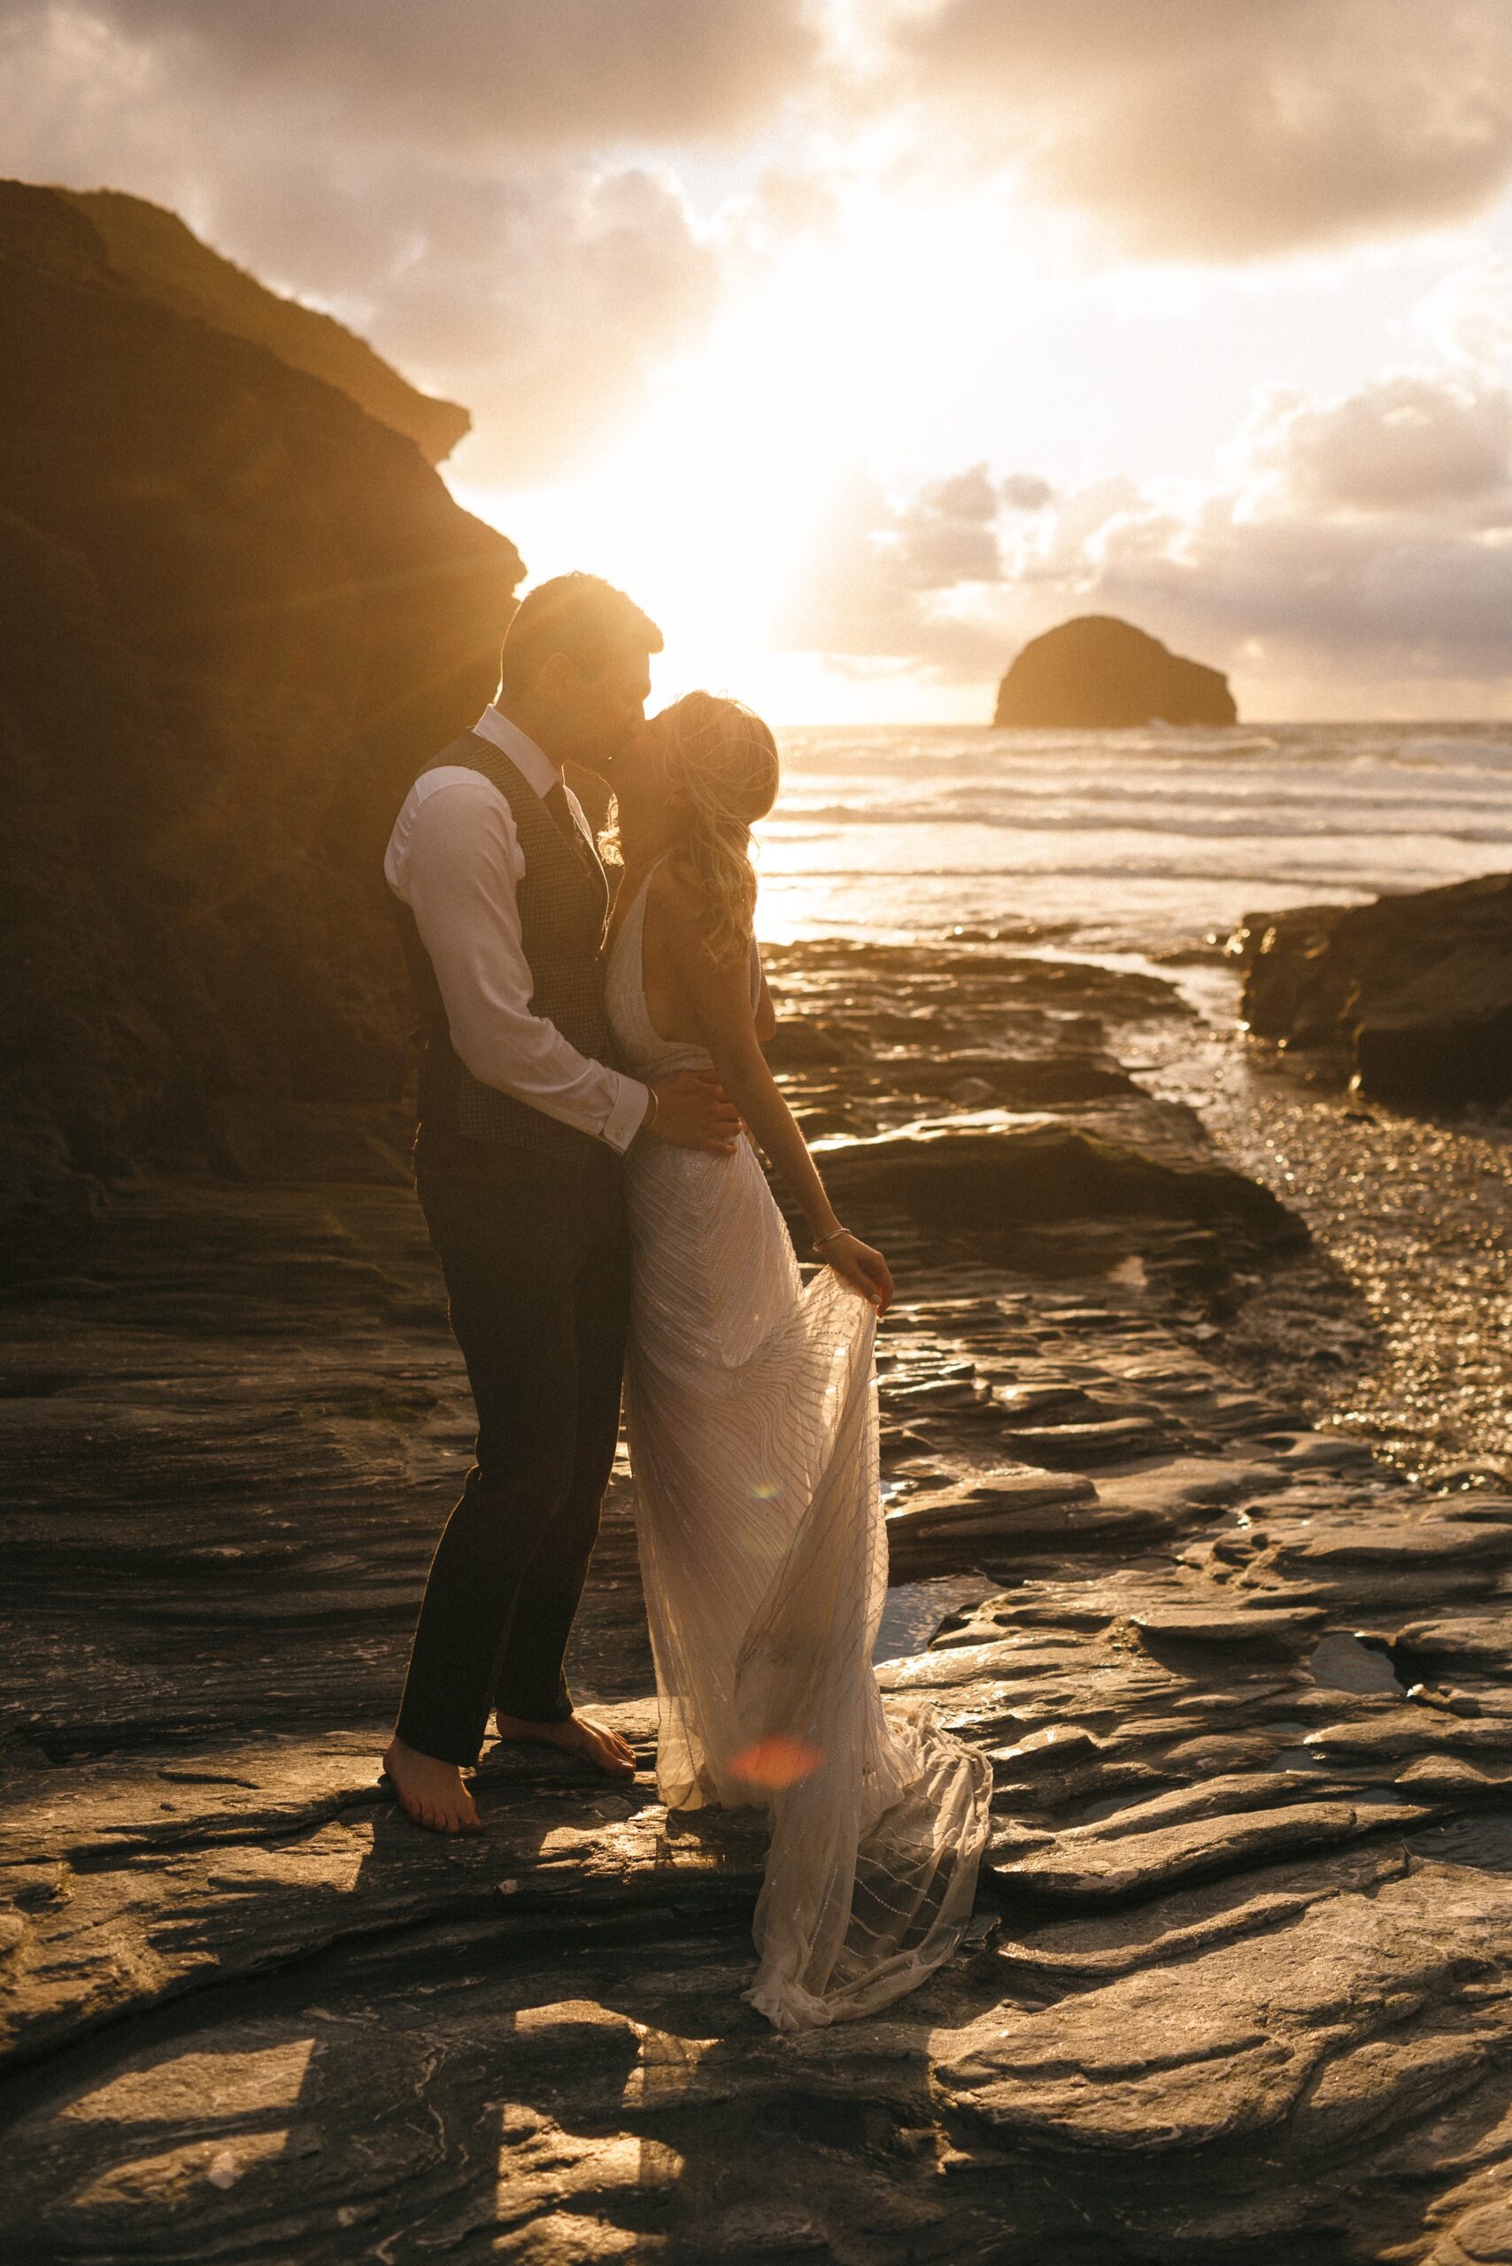
[[[1512,868],[1512,723],[778,739],[771,943],[961,929],[1145,956]]]

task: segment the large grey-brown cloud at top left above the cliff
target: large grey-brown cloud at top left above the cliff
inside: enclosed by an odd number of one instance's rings
[[[154,197],[560,478],[739,263],[660,145],[757,131],[802,0],[7,0],[0,170]]]

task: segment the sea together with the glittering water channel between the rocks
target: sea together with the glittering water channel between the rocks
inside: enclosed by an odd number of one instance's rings
[[[821,959],[1002,940],[1172,981],[1192,1015],[1140,1031],[1127,1067],[1315,1237],[1242,1278],[1229,1355],[1417,1482],[1512,1491],[1512,1113],[1401,1117],[1283,1074],[1233,1045],[1238,968],[1213,949],[1247,913],[1510,872],[1512,723],[778,736],[759,934]],[[773,968],[784,1013],[796,970]],[[882,1654],[936,1611],[893,1591]]]

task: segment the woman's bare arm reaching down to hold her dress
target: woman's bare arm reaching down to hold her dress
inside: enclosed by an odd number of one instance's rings
[[[793,1190],[821,1258],[864,1298],[870,1298],[880,1314],[886,1314],[893,1298],[886,1260],[859,1235],[841,1228],[809,1156],[809,1144],[782,1099],[782,1088],[766,1067],[757,1038],[759,1011],[750,1004],[748,959],[741,954],[730,963],[712,961],[698,925],[696,886],[676,877],[669,881],[671,886],[662,895],[669,959],[678,970],[678,986],[698,1042],[714,1056],[719,1081],[750,1126],[755,1142]]]

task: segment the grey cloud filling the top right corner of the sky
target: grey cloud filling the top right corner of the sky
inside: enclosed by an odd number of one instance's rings
[[[895,39],[975,163],[1145,256],[1435,229],[1512,179],[1505,0],[941,0]]]

